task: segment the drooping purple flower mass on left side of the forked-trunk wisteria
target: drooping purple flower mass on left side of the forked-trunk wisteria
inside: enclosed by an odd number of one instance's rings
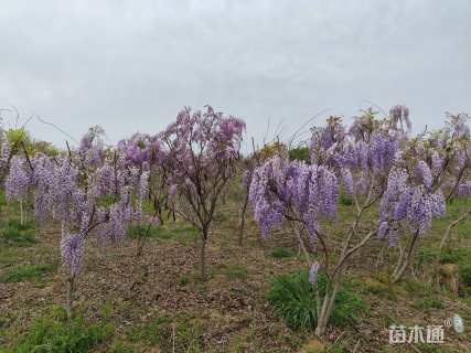
[[[288,217],[303,222],[313,240],[319,217],[335,216],[338,194],[338,179],[328,168],[274,157],[254,170],[249,201],[264,236]]]

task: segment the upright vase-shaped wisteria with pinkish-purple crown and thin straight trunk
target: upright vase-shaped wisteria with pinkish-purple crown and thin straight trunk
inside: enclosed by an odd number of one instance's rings
[[[245,122],[206,107],[183,109],[159,137],[171,207],[201,235],[201,277],[206,279],[206,243],[214,213],[235,172]]]

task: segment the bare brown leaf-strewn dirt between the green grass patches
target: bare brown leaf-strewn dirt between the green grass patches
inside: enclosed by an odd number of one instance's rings
[[[225,207],[218,216],[208,242],[210,279],[204,285],[199,280],[197,236],[190,231],[150,239],[138,260],[135,240],[127,239],[120,247],[100,248],[92,236],[76,284],[76,311],[95,321],[100,320],[106,307],[109,320],[116,325],[114,340],[130,342],[137,352],[171,352],[165,344],[159,346],[140,338],[139,331],[158,318],[172,321],[182,317],[197,323],[199,330],[192,334],[202,352],[320,352],[335,342],[351,352],[471,352],[470,329],[457,335],[446,328],[446,342],[440,346],[388,344],[390,324],[443,324],[459,312],[471,328],[471,306],[469,298],[435,291],[433,298],[442,302],[440,309],[415,308],[413,303],[420,295],[420,287],[410,282],[390,287],[383,281],[384,269],[371,274],[376,243],[356,255],[347,275],[356,281],[370,306],[360,324],[330,328],[320,340],[309,332],[291,331],[274,314],[266,292],[272,276],[303,269],[301,257],[296,256],[296,244],[287,231],[260,240],[256,225],[248,217],[246,236],[239,246],[237,213],[236,206]],[[170,223],[164,227],[171,234],[180,226]],[[2,340],[6,346],[28,330],[34,318],[65,302],[57,227],[41,229],[38,240],[33,246],[12,248],[0,255],[3,257],[0,275],[19,264],[54,265],[54,270],[41,281],[0,284],[0,312],[9,322],[8,330],[2,331],[8,333]],[[277,247],[292,248],[295,256],[275,258],[270,254]],[[417,278],[413,284],[421,281]],[[104,347],[103,352],[106,351]]]

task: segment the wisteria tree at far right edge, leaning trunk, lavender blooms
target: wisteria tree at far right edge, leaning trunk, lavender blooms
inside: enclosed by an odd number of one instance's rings
[[[463,116],[451,116],[446,129],[422,133],[404,145],[381,206],[381,234],[399,249],[393,281],[403,278],[420,237],[429,232],[435,217],[445,214],[446,203],[469,195],[469,141]],[[464,210],[449,224],[440,248],[451,228],[468,214]]]

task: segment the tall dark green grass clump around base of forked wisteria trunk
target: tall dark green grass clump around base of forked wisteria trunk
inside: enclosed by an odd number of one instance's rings
[[[318,287],[321,296],[325,291],[327,284],[327,277],[319,276]],[[308,281],[307,271],[275,277],[270,282],[267,299],[288,327],[301,330],[312,330],[315,327],[315,296]],[[355,324],[366,312],[368,307],[365,301],[351,285],[345,284],[335,297],[329,323],[336,327]]]

